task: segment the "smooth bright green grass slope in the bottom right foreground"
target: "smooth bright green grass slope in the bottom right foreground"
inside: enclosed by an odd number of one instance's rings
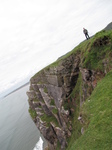
[[[85,102],[82,114],[88,116],[90,124],[85,133],[72,143],[70,150],[112,149],[112,71]]]

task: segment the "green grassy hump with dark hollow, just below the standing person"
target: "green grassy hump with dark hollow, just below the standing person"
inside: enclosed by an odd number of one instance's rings
[[[112,55],[112,36],[110,33],[112,34],[112,31],[102,31],[93,37],[83,54],[83,67],[104,70],[103,59],[110,59]]]

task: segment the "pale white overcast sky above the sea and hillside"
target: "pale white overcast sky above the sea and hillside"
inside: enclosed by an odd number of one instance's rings
[[[0,94],[112,21],[112,0],[0,0]]]

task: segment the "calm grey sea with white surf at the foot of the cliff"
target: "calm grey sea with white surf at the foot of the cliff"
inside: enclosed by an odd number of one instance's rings
[[[46,145],[28,113],[28,89],[0,99],[0,150],[43,150]]]

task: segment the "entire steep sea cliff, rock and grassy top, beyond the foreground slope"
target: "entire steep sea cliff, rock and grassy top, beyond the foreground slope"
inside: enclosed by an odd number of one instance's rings
[[[29,113],[50,150],[71,149],[86,134],[83,106],[111,67],[112,30],[103,30],[31,78]]]

